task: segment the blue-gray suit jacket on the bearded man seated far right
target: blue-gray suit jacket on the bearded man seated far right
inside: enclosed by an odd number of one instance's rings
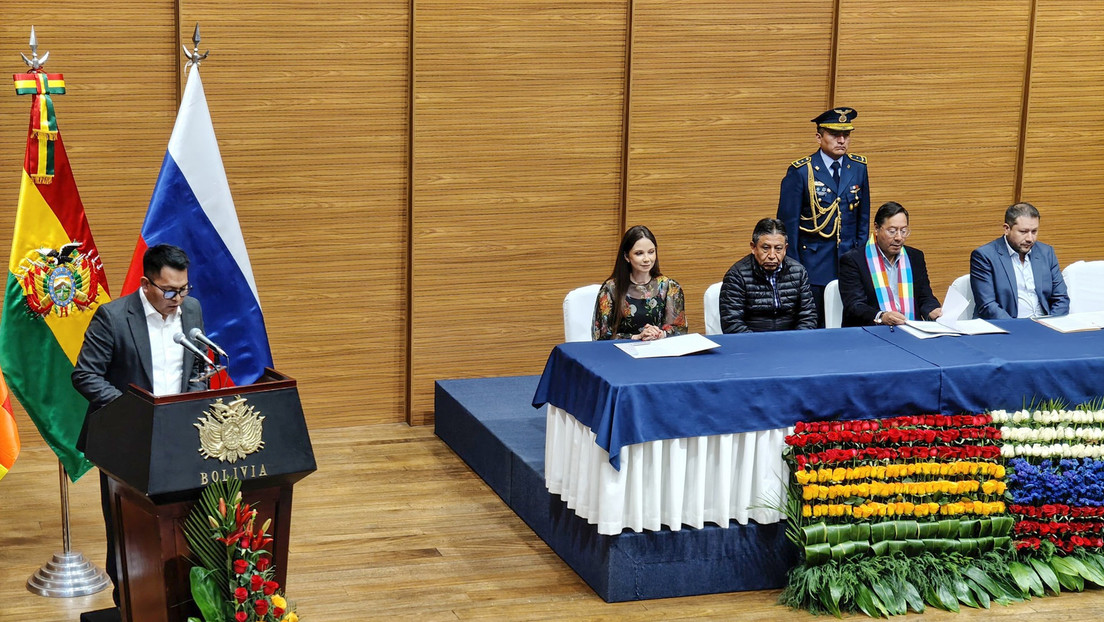
[[[1049,244],[1036,242],[1031,249],[1031,274],[1036,296],[1047,315],[1070,313],[1070,296],[1058,267],[1058,256]],[[1001,235],[977,249],[969,256],[969,285],[974,291],[974,317],[1010,319],[1019,308],[1016,296],[1016,273]]]

